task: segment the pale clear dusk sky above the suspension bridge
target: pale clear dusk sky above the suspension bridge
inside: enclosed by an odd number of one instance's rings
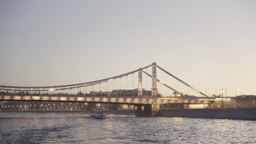
[[[238,95],[256,95],[255,7],[256,1],[0,1],[0,85],[82,83],[156,62],[207,94],[226,87],[234,97],[238,87]],[[157,78],[200,96],[159,69]],[[143,88],[150,86],[143,75]],[[158,91],[172,94],[160,83]]]

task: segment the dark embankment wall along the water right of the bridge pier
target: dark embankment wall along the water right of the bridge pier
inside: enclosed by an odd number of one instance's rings
[[[164,109],[159,117],[189,117],[256,120],[256,108],[243,109]]]

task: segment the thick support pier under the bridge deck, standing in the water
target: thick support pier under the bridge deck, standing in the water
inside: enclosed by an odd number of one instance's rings
[[[135,105],[136,111],[135,116],[137,117],[154,117],[160,110],[160,105]]]

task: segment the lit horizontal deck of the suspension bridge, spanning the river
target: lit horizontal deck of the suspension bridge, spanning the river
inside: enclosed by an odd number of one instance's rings
[[[14,94],[1,93],[0,101],[67,101],[80,103],[108,103],[130,105],[160,105],[160,104],[210,104],[214,99],[209,98],[166,98],[166,97],[131,97],[131,96],[108,96],[108,95],[68,95],[68,94]]]

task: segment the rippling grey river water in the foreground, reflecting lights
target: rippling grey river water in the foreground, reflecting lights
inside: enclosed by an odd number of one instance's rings
[[[256,121],[0,113],[0,143],[256,143]]]

